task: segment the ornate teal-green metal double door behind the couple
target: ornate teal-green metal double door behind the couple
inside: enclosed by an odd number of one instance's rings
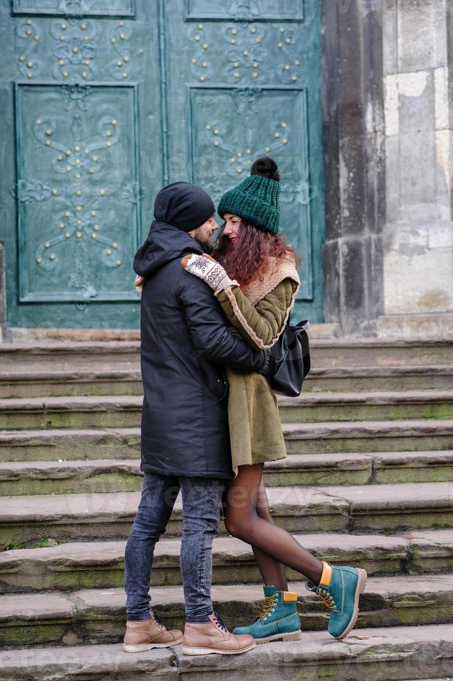
[[[271,154],[322,320],[317,0],[13,0],[3,10],[8,324],[138,326],[133,253],[164,183],[218,200]]]

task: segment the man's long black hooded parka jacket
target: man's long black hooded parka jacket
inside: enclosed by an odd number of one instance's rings
[[[213,291],[181,267],[203,248],[187,233],[153,222],[135,254],[145,277],[141,301],[141,470],[230,479],[228,384],[223,366],[249,372],[263,352],[227,330]]]

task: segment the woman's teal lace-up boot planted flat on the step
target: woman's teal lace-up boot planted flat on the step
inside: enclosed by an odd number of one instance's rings
[[[265,586],[264,596],[263,610],[256,622],[249,627],[236,627],[233,634],[250,634],[256,643],[302,639],[297,614],[297,593],[277,591],[275,586]]]

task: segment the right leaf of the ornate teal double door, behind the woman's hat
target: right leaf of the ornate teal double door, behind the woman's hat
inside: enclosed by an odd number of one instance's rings
[[[169,177],[215,202],[254,158],[281,170],[282,227],[302,255],[295,315],[323,319],[324,234],[317,0],[166,3]]]

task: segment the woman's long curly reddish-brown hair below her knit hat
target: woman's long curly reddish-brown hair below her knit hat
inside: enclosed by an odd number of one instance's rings
[[[220,261],[229,277],[236,279],[241,286],[249,284],[256,277],[263,281],[270,257],[288,259],[295,265],[301,262],[299,254],[288,244],[284,234],[274,236],[241,221],[238,239],[231,243],[223,235],[224,227],[223,224],[215,242],[213,258]]]

